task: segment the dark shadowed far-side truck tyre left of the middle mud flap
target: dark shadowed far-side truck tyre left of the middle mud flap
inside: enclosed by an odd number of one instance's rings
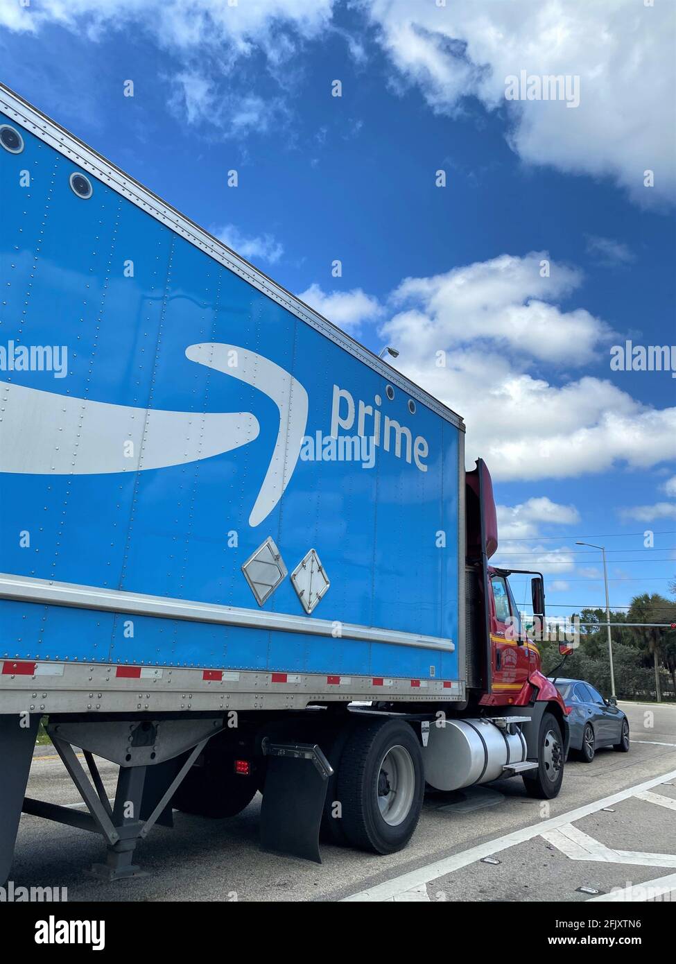
[[[174,794],[172,806],[195,817],[234,817],[257,794],[257,780],[229,772],[230,761],[213,758],[188,770]]]

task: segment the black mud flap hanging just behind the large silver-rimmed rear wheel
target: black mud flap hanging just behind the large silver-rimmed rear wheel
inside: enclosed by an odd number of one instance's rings
[[[263,739],[268,758],[260,810],[263,850],[321,864],[319,827],[331,763],[316,743],[278,743]]]

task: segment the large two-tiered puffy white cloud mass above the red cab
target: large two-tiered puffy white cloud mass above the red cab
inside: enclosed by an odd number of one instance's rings
[[[554,383],[554,363],[591,362],[608,326],[583,308],[552,304],[570,297],[580,275],[553,264],[552,278],[542,279],[540,259],[502,255],[403,281],[392,296],[403,310],[379,333],[399,349],[397,366],[464,416],[468,465],[481,455],[498,479],[676,459],[676,408],[643,405],[609,378]],[[528,370],[533,360],[541,377]]]

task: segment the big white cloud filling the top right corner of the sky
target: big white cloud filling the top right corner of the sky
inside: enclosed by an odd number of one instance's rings
[[[673,200],[673,3],[637,0],[361,0],[400,76],[439,113],[476,97],[507,111],[510,146],[525,161],[608,175],[635,201]],[[506,101],[505,78],[579,75],[580,105]],[[644,171],[655,186],[643,186]]]

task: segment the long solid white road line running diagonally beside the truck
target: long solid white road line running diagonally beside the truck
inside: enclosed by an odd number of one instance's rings
[[[363,891],[359,891],[351,897],[343,897],[343,900],[390,900],[391,897],[395,897],[397,894],[402,894],[404,891],[410,891],[423,884],[428,884],[438,877],[445,876],[446,873],[461,870],[463,867],[467,867],[469,864],[481,860],[482,857],[490,857],[492,854],[499,853],[500,850],[507,850],[511,846],[516,846],[516,844],[525,844],[527,841],[532,840],[533,837],[539,837],[541,834],[547,833],[550,830],[558,830],[567,823],[574,823],[576,820],[581,820],[582,817],[596,814],[598,811],[603,810],[604,807],[611,807],[615,803],[627,800],[642,790],[652,790],[653,787],[657,787],[667,780],[673,780],[675,777],[676,770],[670,770],[660,777],[653,777],[652,780],[646,780],[645,783],[636,784],[635,787],[629,787],[627,790],[620,790],[611,796],[604,797],[602,800],[596,800],[594,803],[584,804],[584,806],[578,807],[576,810],[569,810],[566,814],[551,817],[549,820],[540,820],[536,824],[522,827],[521,830],[514,830],[496,840],[486,841],[485,844],[478,844],[469,850],[452,854],[450,857],[444,857],[442,860],[437,860],[433,864],[427,864],[418,870],[402,873],[398,877],[392,877],[391,880],[385,881],[385,883],[376,884],[374,887],[368,887]]]

